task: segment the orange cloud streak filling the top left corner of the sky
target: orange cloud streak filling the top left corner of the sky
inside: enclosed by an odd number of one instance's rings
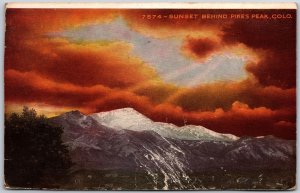
[[[19,31],[34,37],[87,23],[109,22],[116,16],[118,11],[104,9],[7,9],[6,28],[12,31],[8,35]]]

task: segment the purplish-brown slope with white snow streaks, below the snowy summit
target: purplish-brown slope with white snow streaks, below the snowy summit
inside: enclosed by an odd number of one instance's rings
[[[161,183],[157,185],[160,189],[169,189],[168,181],[174,187],[186,188],[189,169],[184,153],[151,130],[108,128],[79,111],[62,114],[51,121],[64,127],[63,139],[76,163],[74,170],[137,171],[148,176],[152,183]],[[158,182],[160,178],[162,182]]]

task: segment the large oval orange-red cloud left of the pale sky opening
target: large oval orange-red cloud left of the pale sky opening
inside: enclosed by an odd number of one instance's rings
[[[128,87],[158,78],[156,72],[122,42],[76,44],[65,40],[27,41],[26,51],[7,50],[6,69],[35,71],[59,82]],[[128,76],[130,74],[130,76]]]

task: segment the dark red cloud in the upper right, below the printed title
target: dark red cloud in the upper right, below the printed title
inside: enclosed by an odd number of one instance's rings
[[[235,21],[224,29],[224,43],[243,43],[257,53],[265,53],[258,64],[249,64],[247,70],[263,85],[293,88],[296,85],[296,10],[263,12],[288,13],[293,19]]]

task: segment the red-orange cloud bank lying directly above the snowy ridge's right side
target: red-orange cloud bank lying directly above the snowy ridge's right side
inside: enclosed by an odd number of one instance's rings
[[[214,111],[186,112],[178,106],[159,105],[151,117],[177,125],[202,125],[217,132],[238,136],[275,135],[295,139],[295,124],[286,124],[285,127],[274,125],[274,122],[280,121],[295,123],[295,115],[296,112],[291,109],[249,108],[248,105],[236,101],[228,111],[219,108]]]

